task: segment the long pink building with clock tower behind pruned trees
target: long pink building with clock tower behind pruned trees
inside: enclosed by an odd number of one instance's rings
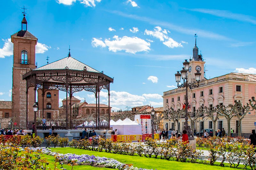
[[[188,89],[189,112],[195,111],[202,104],[207,107],[214,107],[218,104],[228,106],[228,104],[234,104],[234,100],[240,100],[245,105],[252,96],[256,97],[256,74],[230,73],[207,80],[204,78],[204,63],[202,56],[198,55],[198,48],[195,45],[193,59],[189,61],[188,82],[196,83],[195,73],[197,70],[201,73],[201,81],[198,88]],[[181,80],[181,82],[183,81]],[[162,96],[164,110],[171,107],[174,110],[182,109],[182,103],[185,103],[185,94],[185,88],[164,92]],[[212,129],[211,119],[205,117],[204,123],[202,117],[200,119],[200,122],[198,119],[194,124],[197,132],[199,129],[200,131],[207,128]],[[255,129],[254,122],[256,122],[255,110],[249,112],[242,120],[242,134],[251,133],[251,130]],[[166,124],[168,124],[168,128],[173,128],[172,121],[165,120],[164,127]],[[182,128],[185,124],[185,119],[180,119],[179,124],[181,124],[180,128]],[[225,117],[219,117],[216,128],[223,127],[227,132],[227,126]],[[238,133],[238,119],[236,117],[231,119],[231,128],[235,130],[235,133]]]

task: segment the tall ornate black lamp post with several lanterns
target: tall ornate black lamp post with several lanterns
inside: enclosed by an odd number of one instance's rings
[[[183,62],[182,70],[180,70],[180,72],[177,71],[177,73],[175,74],[175,79],[176,79],[176,82],[178,84],[177,85],[178,88],[186,88],[186,97],[185,97],[185,101],[186,101],[185,102],[185,113],[186,113],[186,116],[185,116],[185,125],[184,125],[183,129],[187,131],[188,137],[192,136],[192,138],[190,138],[190,140],[193,140],[194,139],[194,134],[191,131],[190,126],[188,125],[188,88],[192,89],[192,88],[196,88],[196,87],[199,86],[201,73],[199,71],[197,71],[195,73],[197,84],[190,83],[190,82],[188,83],[188,73],[187,73],[188,72],[188,67],[189,67],[189,62],[188,62],[188,60],[185,60]],[[179,85],[181,77],[183,79],[183,83]]]

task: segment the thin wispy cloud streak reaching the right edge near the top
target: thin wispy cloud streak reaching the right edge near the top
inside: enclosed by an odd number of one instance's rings
[[[226,11],[226,10],[214,10],[214,9],[202,9],[202,8],[186,9],[186,10],[201,12],[201,13],[210,14],[210,15],[214,15],[222,18],[234,19],[237,21],[249,22],[251,24],[256,25],[256,18],[250,15],[232,13],[231,11]]]

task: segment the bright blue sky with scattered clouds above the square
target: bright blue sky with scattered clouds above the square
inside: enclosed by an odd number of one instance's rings
[[[206,78],[230,72],[256,74],[255,2],[156,0],[9,0],[3,1],[0,31],[0,100],[11,100],[11,34],[21,28],[21,7],[28,31],[38,38],[38,66],[71,56],[114,78],[111,106],[163,105],[164,91],[176,86],[174,74],[197,46]],[[78,98],[94,103],[91,93]],[[107,103],[102,92],[102,103]],[[65,94],[60,92],[60,99]]]

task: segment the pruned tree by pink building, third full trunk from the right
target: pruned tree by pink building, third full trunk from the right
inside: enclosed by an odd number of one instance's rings
[[[219,114],[217,114],[217,109],[216,108],[209,108],[209,107],[200,107],[198,108],[199,114],[203,114],[204,117],[209,117],[212,120],[213,124],[213,136],[215,136],[215,131],[216,131],[216,122],[219,118]]]

